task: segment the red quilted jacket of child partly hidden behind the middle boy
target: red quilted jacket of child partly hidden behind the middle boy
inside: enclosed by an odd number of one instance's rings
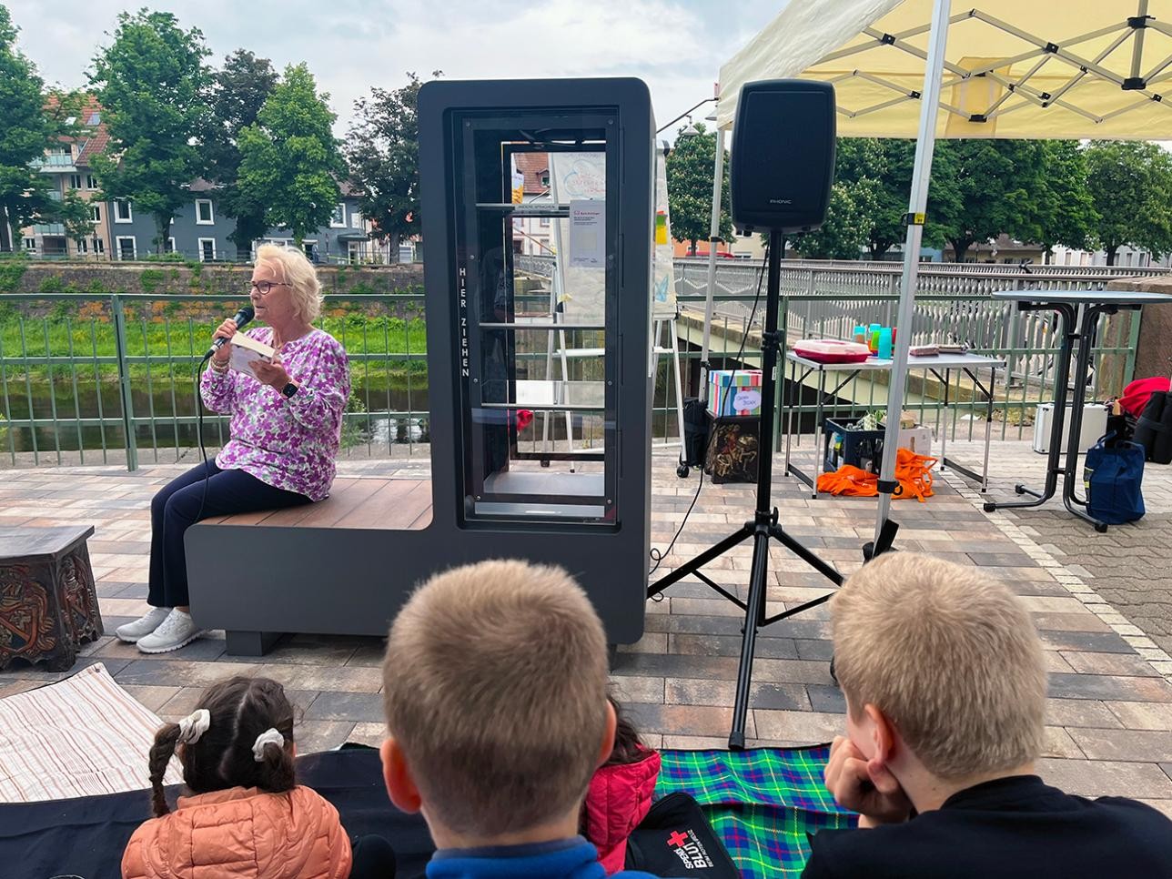
[[[586,791],[586,838],[598,849],[599,863],[607,875],[622,870],[627,858],[627,837],[647,817],[659,778],[660,756],[645,751],[638,763],[602,766]]]

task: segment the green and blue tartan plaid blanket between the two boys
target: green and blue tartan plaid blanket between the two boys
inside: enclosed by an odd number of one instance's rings
[[[660,754],[656,798],[695,797],[744,879],[797,879],[808,833],[854,824],[823,785],[830,745]]]

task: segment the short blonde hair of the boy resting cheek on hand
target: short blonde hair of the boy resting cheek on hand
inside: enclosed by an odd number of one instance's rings
[[[873,704],[940,778],[1016,769],[1042,749],[1045,666],[1022,602],[976,568],[879,557],[831,599],[850,710]]]

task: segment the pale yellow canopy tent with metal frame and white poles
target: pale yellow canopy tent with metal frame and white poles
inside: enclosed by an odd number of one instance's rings
[[[950,0],[785,4],[721,67],[713,234],[724,135],[741,87],[756,80],[832,82],[840,136],[917,137],[908,216],[919,223],[936,137],[1172,139],[1172,0],[970,2],[955,13]],[[921,234],[922,225],[908,225],[901,327],[912,323]],[[710,265],[709,297],[713,271]],[[897,338],[880,473],[886,483],[895,466],[909,341],[909,333]],[[890,503],[880,493],[877,539]]]

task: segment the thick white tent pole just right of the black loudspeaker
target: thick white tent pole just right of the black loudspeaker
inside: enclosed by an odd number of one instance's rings
[[[940,80],[948,43],[948,15],[952,0],[935,0],[932,32],[928,36],[928,60],[924,69],[924,93],[920,104],[920,134],[915,141],[915,166],[908,213],[918,222],[908,223],[904,245],[904,279],[899,291],[899,318],[895,321],[895,360],[891,366],[887,395],[887,427],[883,441],[883,466],[879,470],[879,511],[875,516],[875,545],[891,512],[891,493],[895,478],[895,452],[899,444],[899,418],[904,411],[904,388],[907,383],[907,352],[912,345],[912,320],[915,316],[915,284],[920,270],[920,240],[924,238],[922,216],[928,205],[928,179],[932,176],[932,152],[936,142],[936,114],[940,107]],[[891,489],[893,490],[893,489]]]

